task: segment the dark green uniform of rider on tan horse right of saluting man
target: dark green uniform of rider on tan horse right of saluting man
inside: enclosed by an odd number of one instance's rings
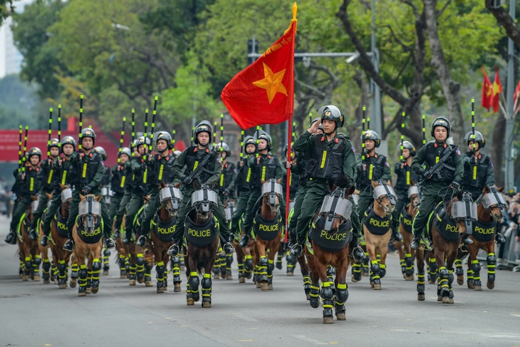
[[[364,170],[363,165],[365,165]],[[392,172],[390,172],[390,165],[388,165],[386,157],[378,153],[365,154],[365,160],[363,160],[363,155],[359,154],[356,157],[355,166],[358,170],[358,178],[355,181],[355,187],[359,190],[358,218],[360,222],[363,222],[365,211],[374,202],[372,181],[387,182],[392,178]]]

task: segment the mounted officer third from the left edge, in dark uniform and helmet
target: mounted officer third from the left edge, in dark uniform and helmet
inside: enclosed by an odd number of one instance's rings
[[[48,235],[51,234],[51,222],[53,221],[56,211],[61,206],[61,185],[71,185],[72,177],[78,175],[78,172],[73,172],[71,164],[71,155],[76,151],[76,140],[72,136],[66,136],[61,139],[60,150],[63,153],[63,157],[58,157],[54,160],[52,168],[54,170],[53,181],[56,181],[57,185],[53,192],[51,204],[47,208],[46,214],[43,215],[43,222],[41,229],[43,230],[43,236],[41,237],[40,244],[45,247],[47,246]],[[55,183],[53,183],[53,186]]]

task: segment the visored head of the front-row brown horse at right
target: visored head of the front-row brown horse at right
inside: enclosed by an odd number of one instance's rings
[[[455,197],[444,197],[444,205],[449,217],[457,223],[460,233],[466,232],[472,227],[472,222],[477,221],[477,204],[468,192],[457,192]]]

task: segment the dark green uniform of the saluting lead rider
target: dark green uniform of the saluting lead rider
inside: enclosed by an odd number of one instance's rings
[[[328,179],[338,179],[346,175],[355,182],[355,152],[350,140],[339,137],[337,133],[331,141],[328,141],[326,135],[311,135],[307,131],[296,140],[294,150],[308,152],[310,155],[307,164],[308,181],[301,213],[299,216],[293,216],[293,218],[298,217],[296,224],[298,244],[303,244],[313,215],[318,211],[323,197],[329,194]],[[351,216],[353,234],[359,236],[361,229],[352,197],[350,202],[354,209]]]

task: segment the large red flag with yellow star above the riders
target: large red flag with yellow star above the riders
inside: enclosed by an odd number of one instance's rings
[[[240,128],[278,124],[292,117],[296,22],[295,3],[284,35],[222,90],[220,98]]]

